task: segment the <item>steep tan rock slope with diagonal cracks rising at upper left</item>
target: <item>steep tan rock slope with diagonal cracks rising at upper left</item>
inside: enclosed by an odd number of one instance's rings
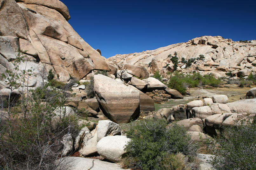
[[[26,51],[28,62],[20,69],[33,67],[38,86],[53,70],[55,78],[66,82],[71,77],[85,79],[93,70],[111,71],[106,59],[86,43],[67,22],[68,8],[59,0],[0,1],[0,72],[13,69],[19,50]],[[43,76],[42,76],[43,74]],[[6,87],[0,79],[1,88]]]

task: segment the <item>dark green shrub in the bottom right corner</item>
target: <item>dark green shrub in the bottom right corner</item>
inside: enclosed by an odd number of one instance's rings
[[[256,169],[256,116],[238,126],[224,127],[225,135],[210,140],[215,157],[209,161],[216,170]],[[217,147],[216,147],[217,146]]]

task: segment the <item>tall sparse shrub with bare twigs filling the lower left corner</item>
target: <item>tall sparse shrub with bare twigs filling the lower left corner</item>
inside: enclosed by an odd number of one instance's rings
[[[64,103],[69,95],[51,82],[32,90],[18,83],[18,79],[24,81],[29,78],[27,76],[32,76],[33,71],[32,68],[31,71],[19,70],[19,64],[25,62],[20,57],[14,60],[13,71],[3,73],[13,89],[20,87],[23,90],[15,107],[10,100],[7,108],[0,105],[0,167],[55,169],[55,161],[62,157],[63,136],[76,135],[81,129],[77,125],[78,117],[76,114],[61,114],[55,119],[60,114],[56,110],[66,109]]]

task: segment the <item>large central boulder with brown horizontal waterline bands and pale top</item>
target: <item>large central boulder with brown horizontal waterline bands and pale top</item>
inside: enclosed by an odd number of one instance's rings
[[[107,76],[94,75],[94,91],[105,116],[128,123],[139,115],[139,92]]]

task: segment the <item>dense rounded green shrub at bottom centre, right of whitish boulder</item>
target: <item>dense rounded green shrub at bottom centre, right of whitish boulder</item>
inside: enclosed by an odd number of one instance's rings
[[[197,145],[192,144],[191,136],[183,127],[174,124],[168,129],[166,125],[167,122],[162,119],[131,123],[127,132],[127,137],[131,140],[125,146],[126,167],[143,170],[165,169],[166,162],[165,165],[163,162],[166,159],[176,160],[172,154],[196,154]]]

